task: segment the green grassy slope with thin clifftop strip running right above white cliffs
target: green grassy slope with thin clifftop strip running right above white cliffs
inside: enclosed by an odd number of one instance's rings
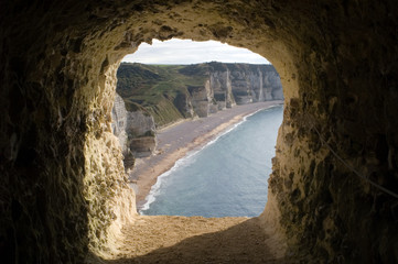
[[[203,63],[192,65],[147,65],[121,63],[117,73],[117,92],[129,111],[143,107],[153,116],[158,125],[186,118],[174,106],[181,95],[189,95],[189,87],[204,86],[214,72],[275,70],[272,65]]]

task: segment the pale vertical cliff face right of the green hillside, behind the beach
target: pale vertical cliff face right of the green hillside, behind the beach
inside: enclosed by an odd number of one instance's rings
[[[200,118],[235,105],[283,100],[280,77],[271,65],[209,65],[204,85],[189,87],[193,111]]]

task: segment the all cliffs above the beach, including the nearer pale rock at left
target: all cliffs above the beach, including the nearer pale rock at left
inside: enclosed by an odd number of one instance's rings
[[[283,99],[271,65],[123,63],[117,77],[112,131],[122,148],[126,172],[136,157],[154,152],[155,127],[204,118],[235,105]]]

